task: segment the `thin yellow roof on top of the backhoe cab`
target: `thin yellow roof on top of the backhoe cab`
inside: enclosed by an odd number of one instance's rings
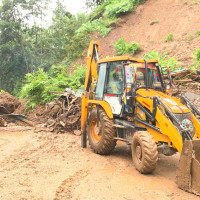
[[[110,58],[104,58],[100,59],[98,63],[105,63],[105,62],[114,62],[114,61],[133,61],[137,63],[144,63],[143,59],[137,59],[137,58],[132,58],[129,56],[117,56],[117,57],[110,57]],[[147,63],[157,63],[157,59],[146,59]]]

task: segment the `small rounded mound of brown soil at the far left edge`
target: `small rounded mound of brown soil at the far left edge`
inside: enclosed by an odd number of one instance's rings
[[[0,95],[0,105],[3,106],[8,113],[13,113],[20,105],[20,101],[8,92],[3,92]]]

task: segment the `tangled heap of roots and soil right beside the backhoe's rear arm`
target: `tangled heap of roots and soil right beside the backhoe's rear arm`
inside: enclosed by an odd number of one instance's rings
[[[57,133],[79,130],[81,98],[66,92],[61,94],[56,101],[36,106],[28,115],[35,125],[52,128],[52,131]]]

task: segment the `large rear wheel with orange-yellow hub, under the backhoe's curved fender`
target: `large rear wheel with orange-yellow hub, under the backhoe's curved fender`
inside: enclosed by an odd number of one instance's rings
[[[113,120],[108,118],[103,109],[99,109],[99,127],[97,127],[97,109],[92,109],[89,117],[88,140],[93,151],[101,155],[111,153],[116,146],[114,137]]]

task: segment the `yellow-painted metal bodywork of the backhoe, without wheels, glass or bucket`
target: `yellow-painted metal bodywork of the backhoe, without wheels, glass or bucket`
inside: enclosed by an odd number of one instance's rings
[[[104,62],[112,62],[112,61],[120,61],[120,60],[129,60],[134,61],[137,63],[144,63],[143,59],[134,59],[127,56],[115,57],[115,58],[106,58],[100,61],[95,61],[93,53],[94,53],[94,45],[97,45],[97,51],[99,50],[99,43],[98,42],[91,42],[88,50],[87,55],[87,71],[86,71],[86,78],[85,78],[85,92],[82,97],[82,115],[81,115],[81,129],[82,132],[86,131],[86,122],[87,116],[89,112],[89,107],[95,107],[97,105],[101,106],[109,118],[113,118],[113,113],[111,110],[110,105],[106,101],[95,100],[94,94],[89,95],[89,92],[94,91],[95,84],[97,82],[98,74],[97,74],[97,66],[99,63]],[[148,63],[157,63],[157,60],[147,60]],[[167,106],[172,113],[191,113],[191,111],[185,105],[181,104],[179,99],[171,97],[163,92],[159,92],[153,89],[138,89],[136,97],[136,102],[140,103],[144,107],[146,107],[150,112],[153,110],[153,97],[158,96],[161,101]],[[89,98],[92,96],[92,98]],[[163,109],[164,112],[164,109]],[[178,129],[174,126],[171,120],[163,114],[160,109],[157,109],[156,112],[156,127],[159,128],[160,132],[155,131],[152,128],[146,127],[145,125],[133,121],[133,123],[138,124],[140,126],[145,127],[149,133],[152,134],[156,143],[158,142],[165,142],[168,146],[176,148],[180,153],[183,147],[183,140],[182,136],[180,135]],[[139,107],[136,108],[136,115],[141,119],[145,118],[145,113],[143,113]],[[192,121],[195,129],[195,138],[200,138],[200,123],[195,118],[194,115],[192,116]]]

